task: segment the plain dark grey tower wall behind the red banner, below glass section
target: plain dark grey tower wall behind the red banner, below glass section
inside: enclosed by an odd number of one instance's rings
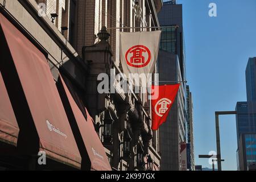
[[[167,51],[159,51],[160,84],[170,84],[168,80],[177,80],[177,55]],[[161,170],[179,170],[179,123],[177,99],[172,105],[166,123],[160,126]]]

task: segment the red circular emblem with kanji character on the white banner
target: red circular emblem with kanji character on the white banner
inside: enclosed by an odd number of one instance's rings
[[[151,60],[151,52],[146,46],[133,46],[126,51],[125,59],[126,63],[131,67],[146,67]]]

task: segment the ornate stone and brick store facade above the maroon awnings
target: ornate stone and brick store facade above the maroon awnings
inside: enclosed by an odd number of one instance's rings
[[[141,21],[135,18],[135,2],[141,5]],[[0,0],[3,4],[3,0]],[[39,3],[46,5],[46,16],[38,16]],[[106,27],[159,26],[156,10],[161,0],[9,0],[5,10],[48,54],[55,79],[59,68],[79,88],[86,107],[94,119],[95,129],[105,146],[113,169],[144,170],[160,168],[159,133],[152,132],[150,101],[143,94],[98,94],[97,75],[122,72],[119,64],[119,31],[109,29],[110,38],[97,35]],[[51,14],[58,16],[52,23]],[[61,27],[68,30],[61,31]],[[146,28],[145,28],[146,29]],[[151,30],[151,28],[147,28]],[[111,131],[106,136],[105,126]]]

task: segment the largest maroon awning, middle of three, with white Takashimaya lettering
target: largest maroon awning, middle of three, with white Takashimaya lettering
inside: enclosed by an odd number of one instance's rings
[[[46,57],[2,14],[0,23],[1,40],[4,36],[7,43],[1,69],[15,98],[18,150],[34,155],[45,151],[48,158],[80,168],[81,156]]]

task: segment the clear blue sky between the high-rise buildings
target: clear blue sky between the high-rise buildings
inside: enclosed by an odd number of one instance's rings
[[[216,3],[217,17],[208,15]],[[245,68],[256,56],[255,0],[177,0],[183,4],[187,80],[194,107],[196,164],[212,168],[199,154],[216,151],[214,111],[246,101]],[[236,170],[236,117],[220,116],[224,170]]]

